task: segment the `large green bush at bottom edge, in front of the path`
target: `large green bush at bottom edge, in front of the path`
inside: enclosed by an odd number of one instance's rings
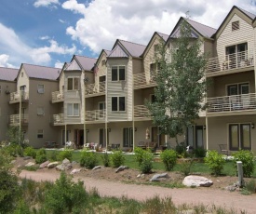
[[[88,200],[84,182],[74,182],[64,172],[46,193],[45,206],[49,213],[82,213]]]

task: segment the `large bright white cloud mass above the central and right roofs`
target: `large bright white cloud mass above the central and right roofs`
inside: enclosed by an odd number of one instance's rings
[[[155,31],[169,34],[187,11],[191,20],[218,28],[234,5],[256,10],[250,0],[226,0],[222,4],[216,0],[133,0],[132,4],[129,0],[94,0],[87,6],[68,0],[61,7],[83,16],[66,33],[99,53],[102,48],[111,49],[117,38],[147,45]]]

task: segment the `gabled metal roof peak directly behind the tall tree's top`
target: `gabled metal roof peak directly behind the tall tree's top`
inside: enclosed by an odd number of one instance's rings
[[[180,35],[180,25],[182,21],[186,21],[192,27],[191,36],[197,38],[198,34],[205,38],[210,38],[214,33],[217,32],[215,28],[209,27],[207,25],[196,22],[195,20],[187,20],[183,17],[178,20],[177,24],[173,28],[172,32],[169,35],[169,38],[176,38]]]

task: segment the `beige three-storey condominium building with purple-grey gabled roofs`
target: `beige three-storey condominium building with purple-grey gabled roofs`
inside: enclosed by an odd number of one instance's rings
[[[219,150],[219,144],[225,144],[230,151],[256,151],[255,20],[255,15],[232,7],[218,29],[181,18],[170,34],[155,32],[147,46],[117,39],[113,48],[102,49],[97,59],[74,55],[61,72],[47,68],[46,73],[40,66],[22,64],[16,92],[10,90],[12,112],[7,114],[27,119],[12,125],[21,125],[24,138],[35,147],[48,140],[59,146],[66,141],[74,141],[77,147],[88,142],[102,147],[114,144],[123,150],[133,149],[139,141],[175,146],[175,140],[160,134],[153,124],[145,100],[155,99],[155,50],[160,43],[177,48],[180,26],[187,21],[191,39],[200,39],[202,53],[208,54],[206,78],[210,84],[207,110],[200,112],[195,125],[188,127],[179,141],[195,148]],[[15,83],[11,84],[14,87]],[[15,100],[20,93],[22,99]],[[0,105],[4,108],[2,97]],[[5,127],[2,119],[1,127]]]

